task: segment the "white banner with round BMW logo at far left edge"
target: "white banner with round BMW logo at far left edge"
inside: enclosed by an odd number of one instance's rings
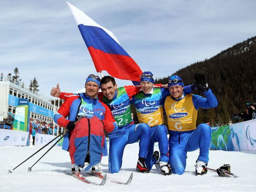
[[[0,146],[26,146],[29,132],[0,129]]]

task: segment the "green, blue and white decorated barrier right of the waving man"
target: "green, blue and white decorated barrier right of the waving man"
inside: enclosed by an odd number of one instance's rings
[[[212,150],[256,151],[256,119],[211,129]]]

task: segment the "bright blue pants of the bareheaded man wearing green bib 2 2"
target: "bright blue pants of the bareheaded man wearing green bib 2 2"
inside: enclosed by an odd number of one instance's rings
[[[130,124],[130,129],[120,137],[109,139],[108,170],[117,173],[122,166],[124,148],[127,144],[139,141],[139,157],[146,158],[150,140],[150,127],[148,124]]]

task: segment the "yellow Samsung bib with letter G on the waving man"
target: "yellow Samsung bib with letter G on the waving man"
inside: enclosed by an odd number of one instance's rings
[[[196,129],[197,110],[192,102],[192,95],[185,95],[180,101],[171,96],[166,97],[164,108],[168,119],[168,129],[174,131],[188,131]]]

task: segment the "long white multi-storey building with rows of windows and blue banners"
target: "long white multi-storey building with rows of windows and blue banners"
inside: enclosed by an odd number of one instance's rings
[[[11,76],[0,81],[0,124],[12,124],[19,98],[29,100],[30,118],[54,124],[53,115],[60,102],[57,106],[51,104],[54,98],[29,90],[29,86]]]

